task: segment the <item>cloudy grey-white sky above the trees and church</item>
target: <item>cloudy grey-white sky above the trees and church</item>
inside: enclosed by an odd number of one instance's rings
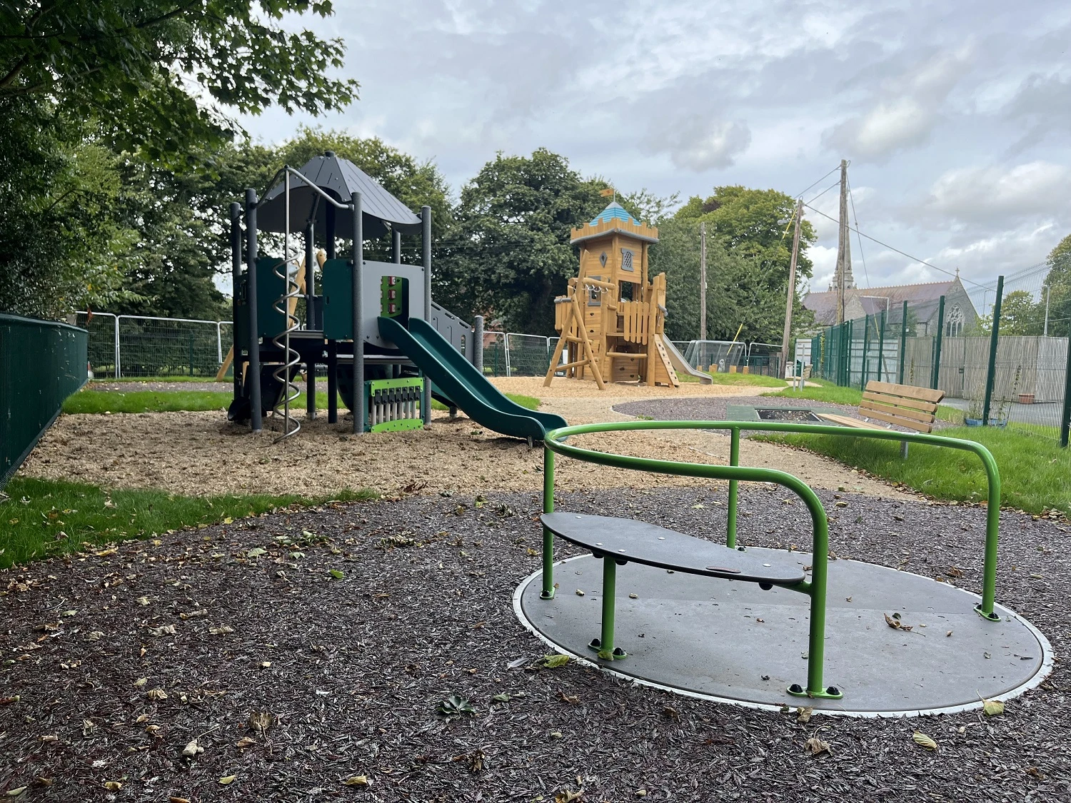
[[[796,195],[846,158],[860,230],[982,285],[1071,232],[1071,3],[335,6],[311,27],[345,41],[360,102],[318,121],[244,119],[260,139],[302,122],[379,136],[434,158],[455,192],[496,151],[541,146],[621,191],[682,198],[738,183]],[[835,188],[813,206],[835,216]],[[808,215],[812,285],[826,289],[836,226]],[[860,286],[944,275],[868,240],[861,251],[854,238]]]

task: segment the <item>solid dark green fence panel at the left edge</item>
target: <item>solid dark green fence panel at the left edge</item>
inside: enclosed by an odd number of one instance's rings
[[[86,382],[89,334],[0,315],[0,488]]]

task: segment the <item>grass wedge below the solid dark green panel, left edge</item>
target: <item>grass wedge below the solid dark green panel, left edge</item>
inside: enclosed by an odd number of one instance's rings
[[[16,476],[0,502],[3,549],[0,567],[97,548],[125,539],[152,537],[168,530],[239,519],[292,504],[329,499],[378,499],[371,489],[331,497],[183,497],[164,490],[105,490],[94,485]],[[0,497],[2,499],[2,497]]]

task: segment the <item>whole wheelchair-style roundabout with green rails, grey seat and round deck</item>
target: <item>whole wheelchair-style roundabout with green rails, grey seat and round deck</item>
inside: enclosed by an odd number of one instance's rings
[[[633,457],[567,443],[578,435],[649,429],[727,429],[729,465]],[[989,482],[981,597],[908,572],[832,559],[829,520],[817,495],[784,471],[739,466],[742,431],[900,440],[976,455]],[[557,454],[727,480],[725,545],[631,519],[556,511]],[[757,707],[780,708],[803,698],[805,706],[828,713],[900,716],[1014,697],[1052,670],[1044,636],[995,604],[1000,474],[981,444],[930,434],[765,421],[586,424],[547,433],[543,478],[542,571],[521,584],[514,607],[547,643],[623,677]],[[811,552],[738,544],[741,481],[780,485],[803,502]],[[555,563],[555,535],[589,554]],[[601,594],[557,593],[556,571],[571,585],[601,587]],[[590,638],[597,618],[598,635]],[[617,641],[619,631],[630,634],[628,647]]]

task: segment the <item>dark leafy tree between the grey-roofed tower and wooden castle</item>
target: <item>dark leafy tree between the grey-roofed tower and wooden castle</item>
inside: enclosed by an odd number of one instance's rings
[[[462,190],[436,293],[455,313],[553,335],[554,298],[577,270],[570,230],[606,206],[604,186],[544,148],[531,156],[500,152]]]

